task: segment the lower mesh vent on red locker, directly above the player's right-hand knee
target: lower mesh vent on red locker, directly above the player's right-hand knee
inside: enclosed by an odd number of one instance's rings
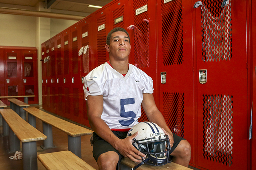
[[[184,93],[163,92],[163,117],[173,133],[184,137]]]

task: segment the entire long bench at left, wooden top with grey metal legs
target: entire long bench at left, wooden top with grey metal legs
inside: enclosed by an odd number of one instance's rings
[[[46,135],[23,120],[12,109],[1,109],[1,115],[9,125],[9,151],[23,151],[23,170],[37,170],[37,141],[45,140]]]

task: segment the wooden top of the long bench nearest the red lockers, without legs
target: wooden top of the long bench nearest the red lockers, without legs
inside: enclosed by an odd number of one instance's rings
[[[66,120],[60,119],[56,116],[48,114],[48,113],[46,113],[42,110],[39,110],[35,107],[28,107],[28,108],[23,108],[23,109],[25,111],[27,111],[29,114],[37,117],[38,119],[42,120],[43,122],[46,122],[47,124],[49,124],[53,127],[56,127],[57,129],[60,129],[64,132],[66,132],[68,135],[70,135],[72,137],[93,134],[93,131],[91,131],[89,129],[86,129],[86,128],[76,125],[76,124],[73,124]]]

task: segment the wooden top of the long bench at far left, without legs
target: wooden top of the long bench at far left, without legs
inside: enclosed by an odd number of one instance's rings
[[[1,115],[21,142],[45,140],[47,137],[22,119],[12,109],[1,109]]]

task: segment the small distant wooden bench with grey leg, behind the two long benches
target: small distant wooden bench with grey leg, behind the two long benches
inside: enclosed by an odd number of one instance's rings
[[[13,109],[22,119],[26,120],[26,112],[23,110],[24,107],[28,107],[29,104],[20,101],[18,99],[7,99],[10,101],[10,108]]]

